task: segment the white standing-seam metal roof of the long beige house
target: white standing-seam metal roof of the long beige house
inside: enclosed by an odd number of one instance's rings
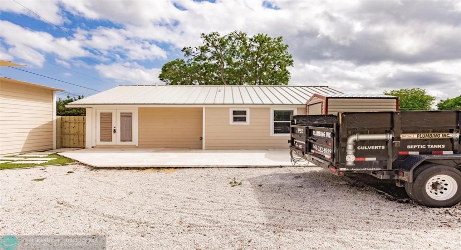
[[[67,105],[98,104],[295,104],[314,94],[341,94],[326,86],[119,86]]]

